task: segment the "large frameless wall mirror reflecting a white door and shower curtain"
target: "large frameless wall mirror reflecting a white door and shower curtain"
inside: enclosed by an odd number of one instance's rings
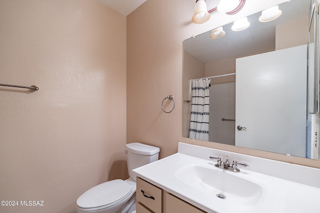
[[[183,137],[318,159],[314,5],[291,0],[274,20],[259,12],[244,30],[184,40]]]

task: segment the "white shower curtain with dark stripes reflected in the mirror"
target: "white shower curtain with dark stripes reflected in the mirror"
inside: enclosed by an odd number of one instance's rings
[[[209,141],[209,83],[208,78],[192,80],[189,138]]]

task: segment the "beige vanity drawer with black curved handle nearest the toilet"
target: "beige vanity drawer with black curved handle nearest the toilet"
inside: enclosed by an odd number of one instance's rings
[[[141,203],[154,213],[161,213],[162,190],[152,184],[136,178],[136,202]]]

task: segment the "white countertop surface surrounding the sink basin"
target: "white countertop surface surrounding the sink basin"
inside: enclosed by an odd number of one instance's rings
[[[208,148],[209,149],[209,148]],[[207,156],[208,157],[208,156]],[[233,159],[230,159],[230,162]],[[214,168],[215,161],[176,153],[151,164],[134,169],[133,172],[145,181],[208,213],[319,213],[320,188],[288,181],[240,168],[232,173]],[[186,165],[212,167],[218,172],[251,181],[262,187],[262,195],[254,202],[241,199],[222,200],[212,190],[203,191],[183,183],[176,171]],[[214,180],[214,177],[210,177]],[[318,181],[320,181],[318,179]],[[223,181],[222,181],[223,182]],[[221,183],[228,184],[228,183]]]

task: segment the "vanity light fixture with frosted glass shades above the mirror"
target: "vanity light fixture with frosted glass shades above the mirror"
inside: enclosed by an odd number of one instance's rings
[[[233,15],[244,6],[245,0],[220,0],[217,7],[207,10],[205,0],[195,0],[193,23],[204,23],[210,18],[210,13],[217,10],[228,15]]]

